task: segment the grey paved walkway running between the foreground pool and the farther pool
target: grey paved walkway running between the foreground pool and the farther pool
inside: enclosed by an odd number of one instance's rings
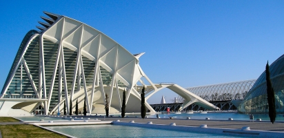
[[[112,121],[120,120],[121,122],[130,122],[134,121],[135,123],[147,124],[149,121],[152,121],[152,124],[163,124],[170,125],[175,123],[176,126],[196,126],[206,124],[207,128],[229,128],[234,130],[241,130],[241,128],[249,126],[250,130],[261,130],[261,131],[270,131],[270,132],[283,132],[284,133],[284,121],[276,121],[272,124],[270,121],[229,121],[229,120],[201,120],[201,119],[156,119],[156,118],[145,118],[141,119],[139,117],[101,117],[101,116],[87,116],[84,118],[89,118],[87,122],[82,121],[70,121],[70,119],[53,122],[53,125],[90,125],[90,124],[110,124]],[[73,117],[74,118],[74,117]],[[99,119],[101,121],[94,121],[94,119]],[[12,124],[34,124],[34,121],[25,121],[25,122],[1,122],[0,125],[12,125]],[[43,123],[43,122],[42,122]],[[35,123],[37,124],[37,123]],[[43,124],[51,125],[51,123],[45,122]],[[41,125],[43,125],[41,124]],[[39,125],[39,126],[41,126]],[[43,125],[46,126],[46,125]],[[281,134],[278,133],[278,134]],[[1,138],[1,134],[0,134]]]

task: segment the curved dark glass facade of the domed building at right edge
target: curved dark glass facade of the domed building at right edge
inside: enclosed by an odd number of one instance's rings
[[[265,68],[265,66],[263,66]],[[263,72],[254,83],[239,105],[239,112],[265,113],[268,112],[266,73]],[[275,107],[277,113],[284,112],[284,55],[270,65],[270,80],[275,92]]]

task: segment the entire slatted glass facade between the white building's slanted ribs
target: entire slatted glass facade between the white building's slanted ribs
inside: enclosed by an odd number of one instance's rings
[[[39,99],[37,97],[37,92],[43,92],[40,90],[40,86],[42,84],[39,83],[39,67],[40,57],[39,57],[39,34],[37,31],[31,30],[26,34],[26,37],[23,39],[20,49],[17,52],[16,58],[14,59],[14,63],[12,64],[12,69],[9,72],[8,78],[6,80],[6,85],[8,86],[6,92],[5,87],[3,88],[3,98],[12,98],[12,99]],[[36,37],[32,37],[34,34],[37,34]],[[30,41],[29,41],[30,40]],[[59,66],[57,67],[57,74],[54,79],[54,86],[52,90],[50,90],[52,85],[52,75],[54,73],[54,66],[57,60],[59,44],[50,41],[49,39],[43,38],[43,56],[44,56],[44,66],[45,66],[45,86],[46,86],[46,97],[42,93],[41,98],[45,99],[50,96],[50,92],[52,91],[51,99],[50,99],[50,108],[52,110],[59,100],[65,99],[65,90],[63,84],[60,84],[60,81],[63,83],[63,78],[59,78]],[[74,77],[74,70],[76,68],[77,63],[77,52],[71,50],[63,46],[63,57],[65,64],[65,75],[66,75],[66,83],[68,87],[68,95],[72,91],[72,83]],[[21,57],[22,55],[22,57]],[[83,71],[85,75],[85,85],[87,88],[91,88],[94,79],[94,68],[96,63],[88,59],[88,57],[82,56],[83,61]],[[26,67],[25,67],[26,66]],[[99,66],[101,70],[101,77],[103,85],[110,86],[112,82],[112,74],[105,70],[102,66]],[[14,72],[14,76],[13,75]],[[76,79],[74,85],[74,92],[78,92],[81,88],[83,88],[83,79],[82,74],[80,74],[80,78]],[[12,77],[12,81],[8,83],[8,79]],[[78,81],[80,84],[78,84]],[[122,83],[119,79],[116,79],[119,87],[126,87],[124,83]],[[99,83],[100,80],[98,80]],[[61,86],[60,86],[61,85]],[[32,87],[34,86],[34,88]],[[60,88],[61,87],[61,88]],[[61,92],[60,92],[61,91]],[[90,91],[90,90],[88,90]]]

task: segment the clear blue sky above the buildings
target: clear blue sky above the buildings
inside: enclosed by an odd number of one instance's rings
[[[257,79],[284,54],[284,1],[1,1],[0,88],[25,34],[65,15],[100,30],[132,54],[153,82],[187,88]],[[161,90],[149,103],[171,102]]]

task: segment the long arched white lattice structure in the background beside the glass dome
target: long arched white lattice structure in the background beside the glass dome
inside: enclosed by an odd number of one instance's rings
[[[255,82],[256,79],[251,79],[247,81],[220,83],[209,86],[196,86],[185,89],[206,101],[226,101],[232,99],[243,99]]]

